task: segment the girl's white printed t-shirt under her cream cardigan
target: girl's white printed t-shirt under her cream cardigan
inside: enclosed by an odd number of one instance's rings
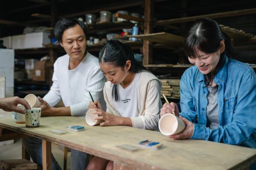
[[[121,84],[117,85],[118,101],[114,102],[115,107],[122,117],[137,117],[141,108],[138,107],[138,79],[141,74],[136,74],[131,84],[125,89]]]

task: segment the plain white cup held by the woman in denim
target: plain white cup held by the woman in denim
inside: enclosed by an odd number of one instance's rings
[[[160,118],[158,126],[160,132],[167,136],[178,134],[186,127],[183,120],[171,113],[164,114]]]

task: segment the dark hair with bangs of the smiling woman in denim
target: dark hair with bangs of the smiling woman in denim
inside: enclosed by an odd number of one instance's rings
[[[204,53],[215,53],[220,49],[220,42],[224,40],[225,51],[220,54],[220,60],[214,71],[204,75],[206,79],[206,86],[210,85],[213,81],[214,76],[218,70],[225,63],[225,55],[232,58],[233,55],[233,45],[229,36],[222,32],[220,26],[215,20],[209,18],[201,18],[196,20],[192,28],[189,29],[189,34],[184,41],[184,51],[186,57],[196,57],[197,49]],[[218,86],[216,86],[218,88]]]

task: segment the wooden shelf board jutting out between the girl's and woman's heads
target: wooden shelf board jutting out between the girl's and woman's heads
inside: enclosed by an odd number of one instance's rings
[[[151,42],[160,43],[160,44],[182,44],[184,41],[184,37],[177,36],[167,32],[159,32],[159,33],[152,33],[152,34],[142,34],[138,36],[128,36],[128,37],[135,37],[142,40],[149,40]]]

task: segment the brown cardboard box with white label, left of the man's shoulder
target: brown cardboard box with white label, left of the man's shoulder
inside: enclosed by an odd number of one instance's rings
[[[34,67],[33,81],[49,81],[50,78],[50,60],[38,61]]]

